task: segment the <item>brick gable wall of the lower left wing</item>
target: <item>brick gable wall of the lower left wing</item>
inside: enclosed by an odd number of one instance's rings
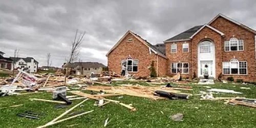
[[[127,42],[127,39],[132,38],[133,42]],[[138,72],[137,73],[130,73],[135,74],[135,76],[142,76],[148,77],[150,76],[150,70],[148,67],[151,66],[152,61],[154,61],[154,66],[157,71],[157,55],[153,52],[150,54],[149,49],[145,46],[141,41],[139,41],[135,36],[131,33],[128,34],[119,44],[117,48],[115,48],[109,55],[108,55],[108,68],[110,71],[114,71],[117,74],[121,74],[121,60],[126,59],[129,55],[133,57],[133,59],[139,60]],[[163,58],[158,56],[160,62],[159,64],[159,75],[165,74],[165,67],[161,67],[160,65],[165,65]],[[159,62],[159,63],[160,63]]]

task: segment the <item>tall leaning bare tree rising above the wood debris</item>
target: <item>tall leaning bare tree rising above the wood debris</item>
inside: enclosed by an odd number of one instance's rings
[[[66,59],[66,60],[67,60],[67,64],[66,64],[66,65],[70,65],[72,62],[74,62],[75,60],[77,60],[77,58],[78,58],[78,56],[79,56],[80,46],[81,46],[81,44],[82,44],[84,34],[86,34],[86,31],[84,31],[83,33],[79,33],[79,34],[78,34],[78,29],[76,30],[76,34],[75,34],[75,37],[74,37],[74,41],[71,42],[71,51],[70,51],[70,54],[69,54],[68,58]],[[69,68],[66,68],[65,84],[66,84],[68,69],[69,69]]]

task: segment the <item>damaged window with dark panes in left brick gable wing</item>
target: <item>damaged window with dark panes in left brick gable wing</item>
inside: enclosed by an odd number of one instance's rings
[[[125,66],[128,72],[138,72],[138,64],[139,60],[137,59],[129,58],[122,60],[122,66]]]

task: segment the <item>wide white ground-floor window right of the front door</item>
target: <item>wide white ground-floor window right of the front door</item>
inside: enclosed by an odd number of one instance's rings
[[[229,74],[224,74],[224,63],[228,62],[229,63]],[[232,74],[231,73],[231,63],[232,62],[237,62],[238,63],[238,74]],[[240,68],[240,62],[246,62],[246,68]],[[228,68],[225,68],[228,69]],[[240,69],[246,69],[246,74],[240,74]],[[248,75],[248,62],[247,61],[223,61],[222,62],[222,74],[223,75]]]

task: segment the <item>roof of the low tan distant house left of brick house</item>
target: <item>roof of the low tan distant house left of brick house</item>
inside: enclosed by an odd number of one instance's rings
[[[82,66],[83,68],[105,68],[102,63],[99,62],[73,62],[73,63],[67,63],[65,64],[65,68],[76,68],[77,66]]]

